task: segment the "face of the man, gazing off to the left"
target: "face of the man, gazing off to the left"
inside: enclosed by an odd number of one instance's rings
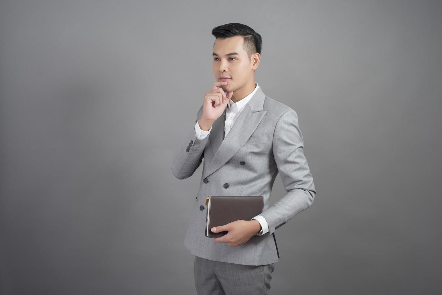
[[[251,60],[249,60],[247,52],[243,49],[244,39],[242,36],[234,36],[230,38],[215,40],[213,45],[213,74],[217,81],[223,81],[221,76],[231,79],[225,80],[226,85],[221,88],[225,92],[236,91],[243,87],[251,79],[253,72]],[[229,53],[236,53],[226,55]],[[251,56],[251,59],[253,56]]]

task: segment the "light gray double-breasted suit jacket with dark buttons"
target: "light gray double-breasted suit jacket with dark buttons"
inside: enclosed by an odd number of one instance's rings
[[[309,208],[316,194],[298,117],[259,87],[224,138],[226,110],[202,140],[196,139],[194,124],[189,125],[186,139],[173,156],[172,173],[178,179],[191,177],[204,159],[184,245],[192,254],[210,260],[243,265],[274,263],[279,258],[274,231]],[[195,123],[201,115],[202,106]],[[287,193],[269,208],[278,172]],[[264,212],[260,215],[266,219],[269,232],[236,247],[213,242],[204,233],[205,200],[210,195],[263,196]]]

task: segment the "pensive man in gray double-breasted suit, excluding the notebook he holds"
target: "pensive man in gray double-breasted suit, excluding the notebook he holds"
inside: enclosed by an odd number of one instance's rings
[[[240,23],[217,26],[212,34],[217,82],[204,96],[171,167],[176,178],[185,179],[204,159],[184,244],[195,255],[199,295],[268,294],[279,258],[274,231],[308,208],[316,189],[297,113],[255,83],[261,36]],[[278,172],[287,193],[269,208]],[[263,196],[264,211],[251,220],[213,227],[213,232],[228,233],[208,238],[205,200],[210,195]]]

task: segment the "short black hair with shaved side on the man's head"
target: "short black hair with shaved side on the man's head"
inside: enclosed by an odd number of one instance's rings
[[[261,54],[261,48],[263,47],[261,35],[256,33],[250,26],[246,26],[242,23],[226,23],[225,25],[213,28],[212,35],[215,36],[215,38],[221,39],[243,36],[243,49],[247,52],[249,60],[253,53],[257,52]],[[213,43],[213,46],[215,46],[215,43]]]

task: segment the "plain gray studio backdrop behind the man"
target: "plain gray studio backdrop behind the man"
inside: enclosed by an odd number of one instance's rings
[[[195,294],[202,166],[178,180],[171,157],[215,81],[210,31],[239,22],[317,189],[275,233],[271,293],[440,294],[441,7],[1,1],[0,293]]]

